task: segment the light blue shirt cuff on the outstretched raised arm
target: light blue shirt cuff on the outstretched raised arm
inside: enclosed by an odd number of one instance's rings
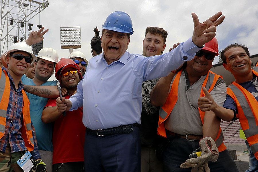
[[[187,41],[184,42],[182,46],[184,54],[187,54],[187,56],[184,56],[183,59],[186,61],[192,60],[196,52],[202,48],[198,48],[195,44],[193,44],[192,37],[190,37]]]

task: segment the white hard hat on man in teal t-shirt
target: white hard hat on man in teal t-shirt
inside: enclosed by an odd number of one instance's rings
[[[48,60],[50,62],[57,63],[58,54],[57,54],[56,50],[54,50],[53,48],[42,48],[38,52],[37,58],[42,58],[44,60]]]

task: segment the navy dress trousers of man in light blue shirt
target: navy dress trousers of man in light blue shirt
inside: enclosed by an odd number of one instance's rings
[[[139,128],[129,134],[85,135],[85,172],[140,172]]]

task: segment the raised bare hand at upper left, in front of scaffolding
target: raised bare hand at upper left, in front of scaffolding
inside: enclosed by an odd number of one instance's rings
[[[28,39],[25,40],[25,42],[31,46],[32,44],[36,44],[39,43],[41,41],[43,41],[44,37],[43,35],[48,32],[48,29],[44,30],[45,28],[42,27],[40,28],[40,30],[38,31],[32,31],[30,32],[30,35],[28,37]],[[43,31],[44,30],[44,31]]]

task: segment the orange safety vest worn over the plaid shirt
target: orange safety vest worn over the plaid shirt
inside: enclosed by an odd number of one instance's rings
[[[25,93],[21,90],[23,94],[24,107],[22,108],[23,120],[22,126],[20,128],[21,136],[24,139],[25,146],[28,151],[34,150],[34,143],[32,137],[32,126],[30,120],[30,101]],[[1,69],[0,72],[0,139],[5,134],[5,125],[6,125],[6,113],[7,107],[9,104],[10,97],[10,80],[7,75],[7,72]]]

